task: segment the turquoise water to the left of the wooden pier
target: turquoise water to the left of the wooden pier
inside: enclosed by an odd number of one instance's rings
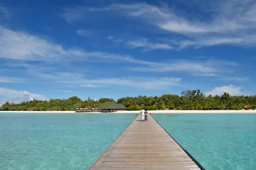
[[[0,169],[85,170],[135,117],[0,113]]]

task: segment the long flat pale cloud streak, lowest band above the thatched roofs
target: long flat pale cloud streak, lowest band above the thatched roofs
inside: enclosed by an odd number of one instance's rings
[[[87,79],[81,75],[72,73],[35,74],[38,77],[52,80],[53,82],[79,85],[80,87],[85,88],[108,88],[113,86],[121,86],[143,89],[168,89],[172,86],[179,85],[179,82],[181,81],[181,78],[172,77],[124,77]]]

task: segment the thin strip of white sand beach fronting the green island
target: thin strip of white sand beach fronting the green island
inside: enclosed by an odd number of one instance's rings
[[[75,111],[0,111],[0,113],[76,113]],[[102,113],[102,112],[79,112],[77,114],[81,113]],[[116,111],[112,113],[137,113],[139,114],[140,111]],[[205,111],[180,111],[180,110],[171,110],[171,111],[148,111],[148,113],[256,113],[256,110],[252,111],[243,111],[243,110],[232,110],[232,111],[226,111],[226,110],[205,110]],[[109,114],[109,113],[106,113]]]

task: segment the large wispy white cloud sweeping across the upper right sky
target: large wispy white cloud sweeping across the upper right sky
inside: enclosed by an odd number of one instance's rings
[[[68,8],[62,15],[67,22],[82,20],[88,12],[118,12],[131,18],[143,20],[152,26],[183,35],[183,39],[172,40],[177,49],[194,46],[212,46],[220,44],[246,45],[256,44],[256,5],[254,0],[224,0],[208,3],[203,16],[184,13],[167,5],[154,6],[147,3],[111,4],[102,8],[79,6]],[[200,3],[198,3],[200,6]],[[116,14],[116,13],[114,13]],[[191,16],[192,15],[192,16]],[[200,16],[200,17],[198,17]],[[167,34],[167,33],[166,33]],[[168,35],[167,34],[167,35]]]

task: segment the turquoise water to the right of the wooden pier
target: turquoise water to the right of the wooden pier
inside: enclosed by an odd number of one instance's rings
[[[256,114],[152,114],[206,170],[256,170]]]

